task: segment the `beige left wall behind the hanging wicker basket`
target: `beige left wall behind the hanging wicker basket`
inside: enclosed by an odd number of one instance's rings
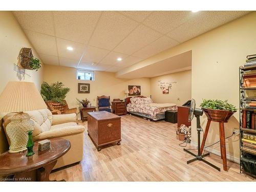
[[[20,28],[11,11],[0,11],[0,93],[8,81],[32,81],[40,88],[43,77],[43,67],[37,72],[25,70],[28,75],[19,75],[13,69],[17,64],[19,51],[23,47],[32,48],[29,40]],[[33,49],[34,56],[37,56]],[[1,123],[1,115],[0,115]],[[2,125],[2,123],[1,123]],[[4,141],[2,126],[0,125],[0,141]],[[6,150],[6,143],[0,142],[0,153]]]

